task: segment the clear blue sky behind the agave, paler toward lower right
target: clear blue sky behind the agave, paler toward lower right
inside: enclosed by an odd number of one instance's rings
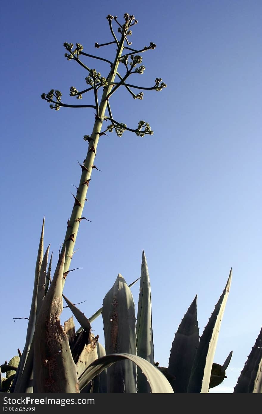
[[[261,328],[261,67],[260,1],[25,1],[2,3],[1,39],[1,363],[23,349],[43,216],[45,248],[55,263],[71,214],[83,135],[93,109],[51,111],[40,95],[85,88],[87,72],[64,57],[64,42],[113,59],[106,16],[134,14],[132,46],[142,54],[151,86],[142,101],[112,96],[113,116],[130,128],[143,119],[154,135],[102,136],[64,293],[91,316],[118,273],[140,276],[142,249],[149,267],[155,360],[168,365],[178,325],[198,294],[200,333],[233,268],[231,291],[214,362],[233,350],[227,379],[213,392],[232,392]],[[99,60],[89,66],[108,75]],[[84,95],[82,104],[93,104]],[[85,102],[84,102],[85,101]],[[139,284],[132,287],[137,304]],[[70,318],[65,309],[62,323]],[[76,323],[77,325],[77,323]],[[77,325],[78,327],[78,325]],[[103,343],[101,317],[92,325]],[[220,389],[219,389],[220,388]]]

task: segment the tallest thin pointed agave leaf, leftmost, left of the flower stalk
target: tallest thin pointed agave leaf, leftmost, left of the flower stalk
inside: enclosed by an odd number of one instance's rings
[[[30,314],[29,314],[29,321],[27,325],[26,343],[25,343],[24,350],[22,353],[22,358],[20,359],[20,363],[17,368],[17,372],[15,374],[14,381],[13,381],[13,385],[15,385],[14,392],[18,392],[17,390],[19,388],[19,385],[17,384],[21,380],[22,372],[24,370],[24,365],[26,363],[26,359],[29,353],[31,342],[34,336],[34,330],[35,330],[35,325],[36,325],[36,296],[37,296],[37,288],[38,288],[38,279],[39,279],[39,272],[40,272],[41,264],[43,260],[44,228],[45,228],[45,217],[43,218],[41,236],[40,236],[39,247],[38,247],[38,254],[37,254],[37,259],[36,259],[34,289],[33,289],[33,297],[32,297],[31,309],[30,309]]]

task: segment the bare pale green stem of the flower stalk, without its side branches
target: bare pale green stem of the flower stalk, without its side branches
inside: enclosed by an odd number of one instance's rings
[[[99,104],[99,117],[100,118],[96,117],[94,128],[91,134],[91,139],[89,142],[86,160],[84,163],[85,168],[82,168],[83,171],[81,174],[81,178],[80,178],[80,182],[79,182],[78,190],[76,194],[76,198],[79,201],[79,203],[75,201],[74,207],[72,209],[72,214],[69,220],[69,224],[67,226],[65,240],[62,246],[62,251],[61,251],[61,255],[62,255],[63,251],[66,248],[64,274],[65,272],[69,270],[69,267],[70,267],[72,254],[73,254],[73,250],[75,247],[75,241],[77,238],[79,223],[80,223],[79,219],[82,217],[84,203],[85,203],[86,196],[87,196],[88,183],[89,183],[88,180],[90,180],[90,177],[91,177],[91,172],[92,172],[92,168],[94,165],[94,159],[96,155],[96,147],[99,142],[99,136],[100,136],[99,133],[101,132],[101,128],[102,128],[102,124],[103,124],[103,120],[104,120],[104,116],[105,116],[105,112],[107,108],[108,95],[110,95],[110,92],[113,88],[116,72],[118,69],[119,62],[120,62],[120,57],[123,52],[124,41],[125,41],[125,36],[123,34],[121,37],[120,43],[119,43],[116,56],[115,56],[115,61],[107,77],[108,84],[103,89],[103,95],[101,98],[101,102]],[[65,284],[65,277],[63,278],[63,286],[64,284]]]

